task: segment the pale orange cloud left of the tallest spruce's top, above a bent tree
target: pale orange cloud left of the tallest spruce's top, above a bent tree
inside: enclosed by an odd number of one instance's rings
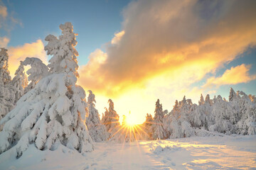
[[[36,42],[26,43],[23,46],[9,47],[9,71],[11,77],[14,77],[14,73],[20,64],[20,61],[26,59],[26,57],[38,57],[44,63],[47,63],[47,55],[44,50],[44,45],[42,40],[37,40]]]

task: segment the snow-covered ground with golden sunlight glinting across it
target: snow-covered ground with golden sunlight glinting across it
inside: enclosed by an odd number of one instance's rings
[[[31,145],[19,159],[14,148],[1,154],[0,169],[256,169],[256,135],[96,143],[85,156]]]

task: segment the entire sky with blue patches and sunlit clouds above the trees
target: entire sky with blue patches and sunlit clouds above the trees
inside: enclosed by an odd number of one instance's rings
[[[100,114],[112,98],[121,117],[142,123],[157,98],[171,111],[183,96],[228,98],[230,87],[255,95],[255,16],[253,0],[0,0],[0,46],[14,75],[26,57],[47,64],[44,38],[73,23],[78,84]]]

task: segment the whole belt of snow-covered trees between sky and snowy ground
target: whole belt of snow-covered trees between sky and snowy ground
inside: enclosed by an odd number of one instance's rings
[[[230,89],[228,101],[201,94],[198,105],[184,96],[169,112],[156,101],[154,116],[146,114],[142,125],[122,124],[114,102],[102,113],[96,97],[76,83],[77,41],[72,23],[60,24],[62,35],[48,35],[45,50],[49,64],[38,58],[21,61],[11,79],[8,51],[0,52],[0,154],[15,147],[17,157],[28,145],[54,150],[64,145],[80,153],[92,152],[94,142],[132,142],[178,137],[256,134],[256,98]],[[24,66],[30,66],[25,73]],[[28,77],[27,77],[28,75]],[[29,82],[29,84],[28,84]]]

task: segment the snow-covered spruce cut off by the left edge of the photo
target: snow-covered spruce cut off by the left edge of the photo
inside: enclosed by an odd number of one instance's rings
[[[14,108],[14,92],[9,88],[11,81],[10,72],[8,70],[9,56],[5,48],[0,51],[0,120]],[[0,130],[3,128],[0,125]]]

